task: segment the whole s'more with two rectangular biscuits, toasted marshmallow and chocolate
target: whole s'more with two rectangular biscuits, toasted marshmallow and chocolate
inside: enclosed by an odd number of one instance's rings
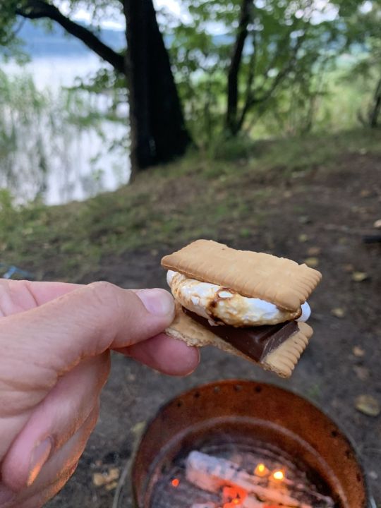
[[[166,333],[190,346],[217,346],[289,377],[313,329],[307,299],[320,272],[212,240],[162,258],[176,301]]]

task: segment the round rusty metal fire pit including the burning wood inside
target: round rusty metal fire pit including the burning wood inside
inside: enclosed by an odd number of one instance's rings
[[[133,464],[137,508],[373,508],[351,442],[279,387],[214,382],[164,406]]]

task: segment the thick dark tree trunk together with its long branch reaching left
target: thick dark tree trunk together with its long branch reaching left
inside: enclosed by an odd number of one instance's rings
[[[1,0],[0,0],[1,1]],[[25,0],[15,13],[49,18],[126,75],[130,95],[131,166],[134,171],[183,155],[191,143],[181,111],[169,54],[152,0],[121,0],[126,15],[126,57],[114,52],[88,28],[63,16],[46,0]]]

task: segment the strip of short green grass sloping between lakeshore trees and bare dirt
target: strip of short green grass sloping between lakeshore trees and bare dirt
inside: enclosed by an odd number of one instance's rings
[[[247,238],[274,200],[277,182],[339,157],[381,153],[381,133],[365,130],[241,143],[234,157],[191,153],[140,174],[131,186],[85,202],[13,207],[0,193],[0,261],[37,277],[78,280],[103,256],[170,248],[191,238]],[[227,149],[225,147],[225,149]]]

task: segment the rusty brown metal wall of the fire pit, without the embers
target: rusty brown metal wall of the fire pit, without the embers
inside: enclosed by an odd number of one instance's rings
[[[335,507],[375,507],[358,454],[331,418],[293,392],[247,380],[202,385],[159,409],[133,461],[135,507],[157,508],[155,487],[176,457],[202,448],[211,436],[229,435],[255,435],[301,459],[333,493]]]

